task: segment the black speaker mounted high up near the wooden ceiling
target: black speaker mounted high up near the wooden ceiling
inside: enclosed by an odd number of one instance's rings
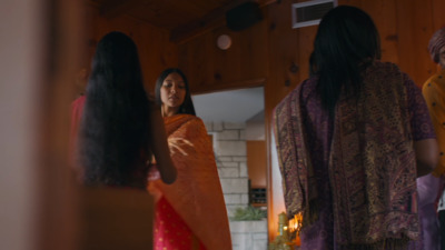
[[[226,12],[227,28],[234,31],[247,29],[261,20],[263,13],[257,2],[245,2]]]

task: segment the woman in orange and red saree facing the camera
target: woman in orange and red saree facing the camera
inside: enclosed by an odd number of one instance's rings
[[[157,80],[156,101],[161,106],[177,180],[149,181],[157,198],[156,250],[229,250],[230,231],[211,141],[195,116],[187,79],[167,69]],[[152,177],[152,174],[151,174]]]

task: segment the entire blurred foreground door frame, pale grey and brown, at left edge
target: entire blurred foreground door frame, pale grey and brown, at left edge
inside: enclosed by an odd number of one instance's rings
[[[0,17],[0,249],[77,249],[78,191],[67,156],[80,10],[78,0],[17,0]]]

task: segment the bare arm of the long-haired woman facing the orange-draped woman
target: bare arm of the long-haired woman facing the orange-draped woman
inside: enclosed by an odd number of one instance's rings
[[[170,157],[170,150],[167,143],[167,134],[164,120],[160,114],[160,108],[157,107],[152,101],[150,101],[150,149],[155,154],[161,180],[165,183],[170,184],[176,180],[177,170]]]

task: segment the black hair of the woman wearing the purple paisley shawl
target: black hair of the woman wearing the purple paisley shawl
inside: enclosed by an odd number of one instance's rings
[[[360,91],[362,71],[380,59],[377,28],[363,10],[339,6],[322,19],[314,42],[310,69],[318,77],[323,107],[334,112],[342,91]]]

